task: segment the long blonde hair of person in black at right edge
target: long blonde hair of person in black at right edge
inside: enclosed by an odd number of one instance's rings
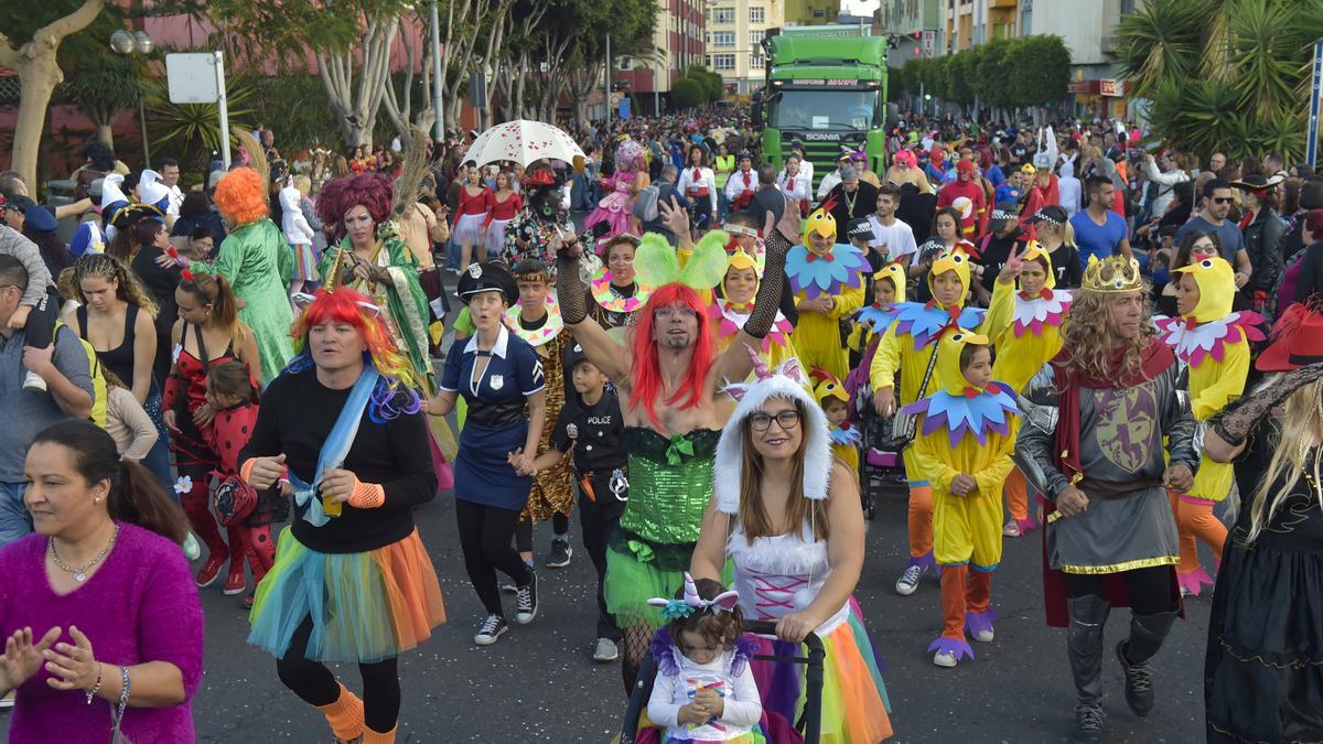
[[[1310,481],[1310,492],[1323,507],[1318,447],[1319,440],[1323,438],[1323,380],[1315,380],[1291,393],[1291,397],[1286,398],[1285,409],[1281,429],[1271,442],[1273,459],[1254,491],[1246,544],[1253,544],[1267,528],[1302,478]],[[1275,483],[1282,486],[1274,490]]]

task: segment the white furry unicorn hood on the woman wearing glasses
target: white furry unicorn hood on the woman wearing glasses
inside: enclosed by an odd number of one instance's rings
[[[770,398],[792,400],[803,410],[799,428],[804,442],[804,498],[824,499],[831,478],[831,432],[827,414],[808,391],[808,377],[799,360],[790,357],[773,372],[766,360],[754,349],[745,347],[753,357],[751,383],[728,384],[725,392],[740,401],[734,413],[721,429],[717,442],[717,457],[712,466],[713,490],[717,495],[717,511],[738,514],[740,483],[744,478],[744,420]]]

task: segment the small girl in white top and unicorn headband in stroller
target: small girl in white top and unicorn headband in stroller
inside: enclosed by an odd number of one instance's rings
[[[757,643],[741,638],[738,592],[724,589],[720,581],[695,581],[685,572],[673,600],[648,600],[668,621],[652,638],[658,675],[648,698],[648,719],[667,727],[663,744],[767,741],[758,727],[762,700],[749,665]]]

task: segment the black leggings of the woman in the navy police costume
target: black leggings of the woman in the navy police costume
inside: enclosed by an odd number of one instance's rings
[[[459,524],[459,547],[464,551],[464,568],[478,598],[490,614],[505,617],[496,590],[496,571],[509,576],[519,586],[533,580],[519,552],[511,547],[517,508],[500,508],[455,499],[455,522]]]

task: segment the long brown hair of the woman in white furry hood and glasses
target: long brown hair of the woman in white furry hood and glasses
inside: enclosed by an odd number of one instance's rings
[[[799,398],[790,400],[799,412],[799,451],[795,453],[795,466],[790,471],[790,496],[786,499],[785,524],[773,524],[767,515],[767,508],[762,503],[762,455],[753,445],[753,425],[750,417],[740,422],[744,430],[741,458],[744,461],[744,478],[740,479],[740,526],[744,528],[745,539],[751,545],[755,537],[774,537],[785,534],[785,527],[798,535],[802,524],[812,524],[814,540],[826,540],[830,532],[827,522],[826,499],[808,499],[804,496],[804,450],[808,449],[808,410]]]

